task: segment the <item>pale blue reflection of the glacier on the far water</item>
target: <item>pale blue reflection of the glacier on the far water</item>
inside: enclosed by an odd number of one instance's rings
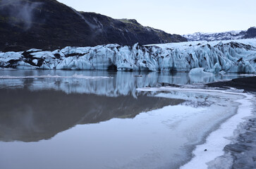
[[[46,75],[50,75],[51,78],[45,77]],[[58,75],[58,78],[54,78],[56,75]],[[97,78],[90,80],[84,78],[71,78],[74,75],[109,78]],[[139,74],[138,72],[127,73],[106,71],[3,70],[0,71],[0,88],[25,87],[31,91],[54,89],[57,91],[65,92],[66,94],[79,93],[97,94],[103,96],[126,96],[131,94],[136,97],[136,88],[155,87],[157,84],[162,82],[169,84],[195,84],[214,82],[224,79],[233,79],[243,76],[244,75],[229,74],[200,77],[195,75],[189,76],[188,73],[167,72]]]

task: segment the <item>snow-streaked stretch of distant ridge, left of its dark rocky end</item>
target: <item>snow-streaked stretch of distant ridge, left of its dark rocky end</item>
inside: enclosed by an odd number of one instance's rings
[[[233,40],[233,39],[242,39],[245,37],[245,31],[228,31],[228,32],[217,32],[217,33],[205,33],[205,32],[196,32],[193,34],[183,35],[187,38],[188,41],[215,41],[215,40]]]

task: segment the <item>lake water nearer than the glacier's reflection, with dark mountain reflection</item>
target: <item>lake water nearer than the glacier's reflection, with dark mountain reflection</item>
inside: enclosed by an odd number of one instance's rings
[[[167,91],[142,92],[137,99],[28,89],[0,94],[0,167],[28,169],[178,168],[207,133],[236,113],[233,100],[241,99]]]

